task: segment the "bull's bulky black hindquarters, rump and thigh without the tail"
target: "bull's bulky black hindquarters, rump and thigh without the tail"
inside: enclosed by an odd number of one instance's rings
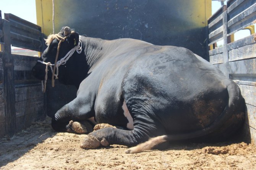
[[[222,114],[229,100],[225,80],[191,51],[163,47],[134,62],[123,92],[128,108],[136,103],[167,133],[188,133],[208,127]]]

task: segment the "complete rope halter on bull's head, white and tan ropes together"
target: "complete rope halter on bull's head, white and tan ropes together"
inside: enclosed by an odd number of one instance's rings
[[[72,34],[72,33],[71,33]],[[58,48],[57,48],[57,54],[56,54],[56,57],[55,57],[55,63],[52,64],[50,62],[48,63],[45,63],[44,61],[40,61],[38,60],[37,62],[39,63],[42,63],[42,64],[45,64],[46,65],[46,69],[45,69],[45,79],[44,79],[44,83],[43,83],[43,80],[42,80],[42,91],[43,93],[45,92],[45,89],[46,89],[46,81],[47,81],[47,73],[48,73],[48,66],[50,66],[51,68],[51,71],[52,71],[52,87],[54,87],[54,77],[55,79],[58,79],[58,73],[59,73],[59,70],[58,70],[58,67],[60,65],[64,65],[66,64],[66,62],[68,61],[68,59],[75,53],[75,51],[80,54],[82,52],[82,42],[81,42],[81,39],[80,39],[80,36],[79,36],[79,42],[78,42],[78,45],[75,46],[74,48],[72,48],[70,51],[68,51],[68,53],[63,57],[61,58],[59,61],[58,60],[58,55],[59,55],[59,51],[60,51],[60,44],[62,42],[65,41],[65,39],[68,37],[61,37],[60,35],[58,34],[55,34],[56,35],[56,39],[59,41],[58,43]],[[53,68],[52,68],[53,66]],[[57,70],[56,74],[55,74],[55,69]]]

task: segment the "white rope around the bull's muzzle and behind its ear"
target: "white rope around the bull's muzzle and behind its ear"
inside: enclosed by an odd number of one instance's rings
[[[82,42],[79,38],[79,43],[77,46],[75,46],[74,48],[72,48],[70,51],[68,51],[68,53],[63,57],[61,58],[59,61],[57,61],[56,63],[56,74],[53,73],[53,69],[52,69],[52,66],[54,66],[54,64],[48,62],[48,63],[45,63],[44,61],[40,61],[40,60],[37,60],[37,62],[39,63],[42,63],[42,64],[45,64],[46,65],[46,69],[45,69],[45,80],[44,80],[44,83],[42,82],[42,91],[43,93],[45,92],[45,87],[46,87],[46,81],[47,81],[47,72],[48,72],[48,66],[50,66],[51,70],[52,70],[52,74],[54,74],[55,76],[55,79],[58,79],[58,74],[59,74],[59,66],[60,65],[64,65],[66,64],[66,62],[68,61],[68,59],[75,53],[75,51],[80,54],[82,52]]]

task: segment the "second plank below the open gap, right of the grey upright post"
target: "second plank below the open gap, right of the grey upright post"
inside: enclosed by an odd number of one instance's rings
[[[228,51],[229,61],[237,61],[241,59],[256,58],[256,43],[235,48]]]

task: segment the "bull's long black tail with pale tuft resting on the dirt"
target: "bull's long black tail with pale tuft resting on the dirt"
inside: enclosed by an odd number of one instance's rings
[[[233,123],[233,124],[237,123],[238,125],[242,125],[244,121],[245,103],[244,103],[243,97],[241,96],[240,89],[232,80],[224,80],[224,83],[227,85],[229,99],[224,111],[219,115],[219,117],[217,117],[217,119],[211,125],[195,132],[176,134],[176,135],[162,135],[162,136],[150,138],[148,141],[144,143],[141,143],[137,146],[129,148],[126,151],[126,153],[139,153],[146,150],[151,150],[158,144],[161,144],[167,141],[186,140],[186,139],[198,138],[201,136],[209,135],[210,133],[213,133],[219,128],[221,128],[222,126],[224,126],[226,122]],[[236,115],[236,116],[232,117],[232,115]],[[234,125],[230,125],[229,127],[227,125],[225,126],[226,126],[225,128],[227,129],[230,127],[234,127]],[[236,128],[239,128],[239,127],[236,126]],[[223,132],[220,132],[220,133],[223,133]]]

